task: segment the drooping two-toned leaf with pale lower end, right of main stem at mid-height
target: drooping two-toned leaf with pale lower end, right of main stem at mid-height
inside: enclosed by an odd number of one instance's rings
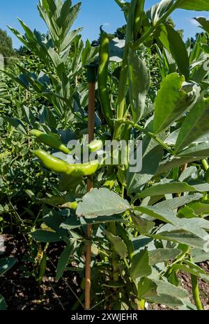
[[[147,136],[144,137],[142,142],[142,169],[140,172],[134,173],[127,170],[127,192],[132,194],[137,192],[142,185],[148,183],[153,178],[159,163],[162,161],[163,148],[160,145],[156,145],[154,139],[150,139]]]

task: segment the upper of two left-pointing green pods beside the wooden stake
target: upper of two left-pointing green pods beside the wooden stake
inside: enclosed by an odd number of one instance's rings
[[[56,150],[59,150],[65,154],[70,153],[69,148],[62,144],[58,135],[56,136],[55,134],[45,134],[44,132],[40,132],[40,130],[31,130],[30,134],[36,136],[38,141],[46,144],[47,146],[55,148]]]

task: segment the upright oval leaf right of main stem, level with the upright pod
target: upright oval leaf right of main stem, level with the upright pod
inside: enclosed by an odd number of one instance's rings
[[[144,115],[146,95],[150,86],[150,71],[144,60],[136,51],[130,49],[128,54],[130,106],[134,123]]]

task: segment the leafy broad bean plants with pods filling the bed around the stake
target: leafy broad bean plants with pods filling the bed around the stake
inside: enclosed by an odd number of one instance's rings
[[[145,309],[148,302],[203,309],[198,279],[208,280],[199,263],[209,255],[209,23],[196,18],[204,32],[192,44],[167,20],[178,8],[208,11],[209,5],[162,0],[145,10],[145,2],[116,0],[127,22],[125,41],[109,40],[101,28],[97,47],[83,43],[81,29],[72,31],[81,3],[70,0],[39,2],[45,38],[21,20],[24,35],[10,27],[38,64],[17,64],[2,81],[1,200],[7,203],[0,224],[37,242],[39,284],[50,244],[65,242],[56,280],[76,271],[84,289],[91,245],[91,307]],[[14,88],[12,99],[6,84]],[[89,84],[95,84],[96,141],[88,153],[104,155],[105,140],[142,141],[141,171],[126,162],[77,163],[69,142],[86,147]],[[113,157],[121,154],[113,151]],[[20,215],[23,190],[29,198]],[[194,304],[179,271],[191,276]]]

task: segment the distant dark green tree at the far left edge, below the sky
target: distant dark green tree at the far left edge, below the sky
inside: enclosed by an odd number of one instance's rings
[[[15,56],[12,38],[2,29],[0,29],[0,53],[3,54],[5,58],[5,65],[8,65],[12,61],[8,58]]]

